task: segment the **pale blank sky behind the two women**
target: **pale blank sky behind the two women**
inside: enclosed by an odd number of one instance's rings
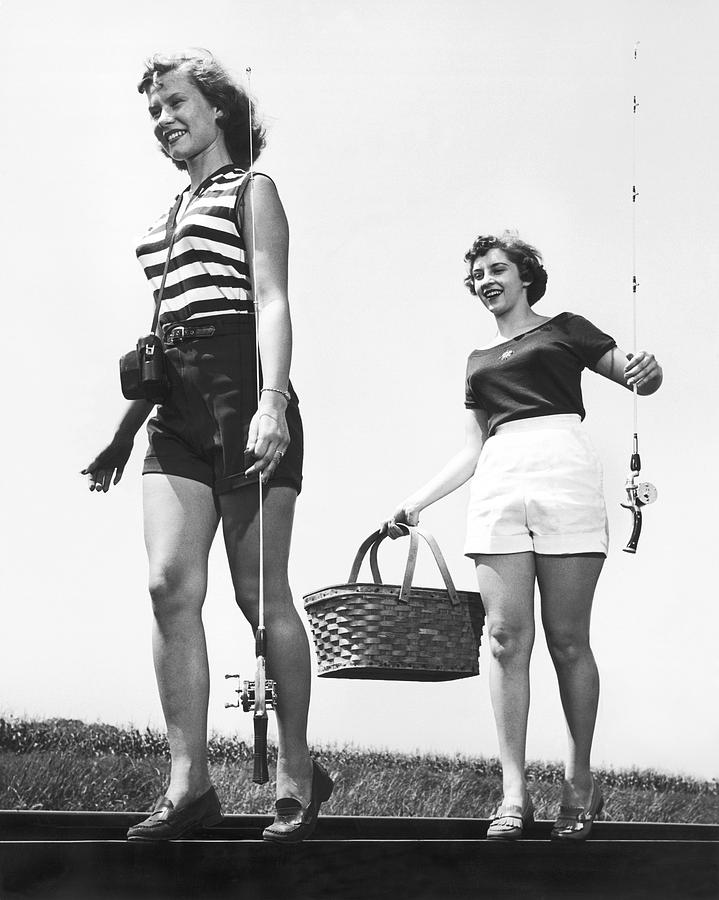
[[[202,15],[204,9],[211,15]],[[624,498],[631,396],[585,378],[612,550],[595,602],[595,763],[716,777],[717,168],[713,0],[0,0],[0,274],[6,312],[0,710],[159,726],[140,467],[90,494],[78,470],[112,433],[117,358],[147,328],[135,239],[184,177],[153,146],[145,56],[209,47],[253,87],[260,169],[290,219],[293,381],[306,430],[295,597],[345,580],[360,541],[461,444],[467,354],[492,321],[462,285],[476,234],[516,227],[544,252],[541,312],[581,313],[631,347],[631,100],[640,100],[639,343],[665,367],[641,401],[643,477],[659,489],[636,557]],[[641,41],[640,61],[632,47]],[[464,491],[426,525],[458,586]],[[405,544],[383,554],[396,580]],[[418,581],[439,583],[425,561]],[[251,677],[249,630],[220,542],[206,605],[212,727],[223,675]],[[316,681],[315,742],[491,755],[479,679]],[[528,754],[564,730],[538,638]]]

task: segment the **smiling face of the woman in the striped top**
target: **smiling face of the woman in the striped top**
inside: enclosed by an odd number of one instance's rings
[[[146,95],[155,137],[172,159],[187,162],[225,148],[218,125],[222,113],[187,72],[180,68],[155,74]]]

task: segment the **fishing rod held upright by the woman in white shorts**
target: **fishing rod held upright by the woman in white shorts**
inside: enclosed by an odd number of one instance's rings
[[[632,325],[633,325],[633,349],[632,357],[637,353],[637,65],[638,65],[639,41],[634,44],[634,100],[632,105]],[[642,533],[642,507],[654,503],[657,499],[657,489],[648,481],[639,482],[642,470],[642,460],[639,455],[639,394],[636,384],[632,385],[632,402],[634,406],[634,429],[632,436],[632,453],[629,459],[629,476],[624,485],[627,494],[627,502],[622,503],[624,509],[632,514],[632,533],[624,547],[625,553],[636,553],[639,537]]]

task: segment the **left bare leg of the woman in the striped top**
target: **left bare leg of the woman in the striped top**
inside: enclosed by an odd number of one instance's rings
[[[180,807],[210,787],[202,604],[218,515],[212,490],[198,481],[153,473],[142,483],[152,650],[172,758],[166,796]]]

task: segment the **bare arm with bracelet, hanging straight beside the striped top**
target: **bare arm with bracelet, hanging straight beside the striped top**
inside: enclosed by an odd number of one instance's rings
[[[249,192],[254,191],[254,198]],[[252,202],[252,200],[254,202]],[[253,229],[254,207],[254,229]],[[287,296],[289,228],[274,183],[256,175],[243,197],[242,237],[247,247],[253,289],[259,307],[259,344],[265,388],[286,391],[292,357],[292,324]],[[255,461],[247,474],[272,476],[290,443],[285,421],[287,400],[276,391],[265,390],[250,425],[247,449]]]

